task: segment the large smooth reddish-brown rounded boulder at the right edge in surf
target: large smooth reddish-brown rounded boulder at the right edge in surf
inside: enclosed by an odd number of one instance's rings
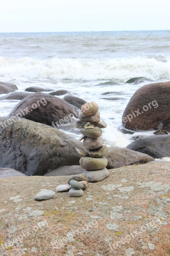
[[[129,130],[170,131],[170,81],[147,84],[133,94],[122,116]]]

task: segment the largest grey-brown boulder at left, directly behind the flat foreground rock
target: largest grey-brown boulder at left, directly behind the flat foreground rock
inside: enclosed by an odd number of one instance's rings
[[[48,125],[0,118],[0,167],[44,175],[49,169],[79,164],[75,147],[85,150],[79,140]]]

